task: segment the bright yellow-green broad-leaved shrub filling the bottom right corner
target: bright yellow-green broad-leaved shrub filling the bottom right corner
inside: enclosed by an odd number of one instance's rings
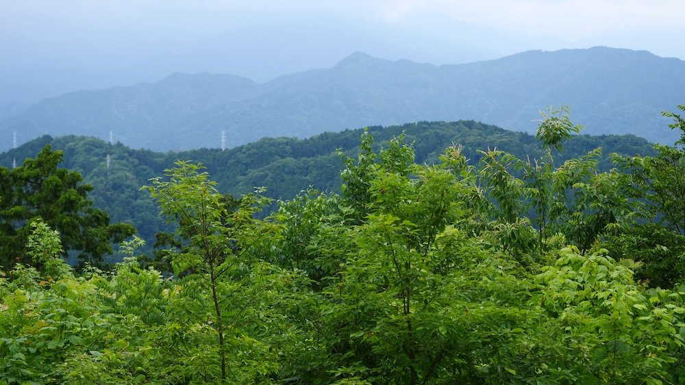
[[[685,353],[685,293],[646,289],[632,261],[607,250],[581,255],[571,246],[535,277],[549,330],[545,363],[558,382],[680,383]],[[531,304],[532,305],[532,304]],[[549,356],[548,356],[549,354]]]

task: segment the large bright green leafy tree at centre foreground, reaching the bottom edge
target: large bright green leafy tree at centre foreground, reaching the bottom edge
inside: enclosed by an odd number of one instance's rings
[[[342,261],[324,290],[325,330],[344,368],[334,373],[379,383],[464,381],[469,374],[455,373],[471,373],[463,355],[471,345],[462,320],[460,298],[469,295],[460,292],[462,268],[488,259],[466,237],[471,213],[464,198],[474,190],[459,181],[464,159],[451,148],[443,165],[421,167],[401,138],[377,158],[366,176],[364,221],[343,225],[336,237],[324,230],[325,239],[316,241]]]

